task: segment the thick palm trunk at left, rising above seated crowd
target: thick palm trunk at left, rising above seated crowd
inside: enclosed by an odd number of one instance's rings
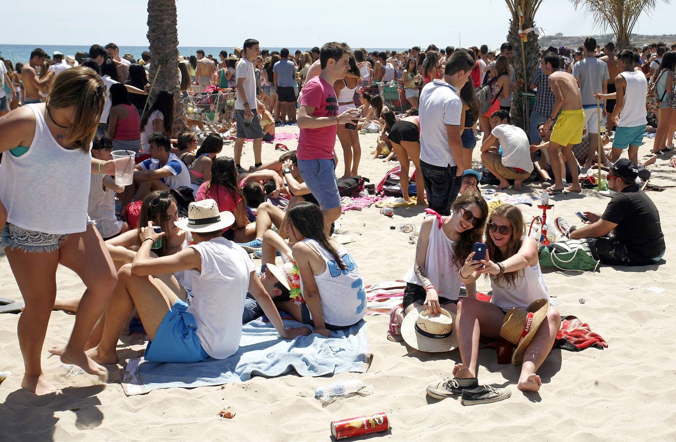
[[[148,42],[150,44],[150,81],[155,78],[155,87],[148,97],[148,106],[158,92],[170,91],[174,94],[174,124],[170,136],[185,128],[183,97],[180,94],[178,79],[178,29],[176,28],[176,1],[148,0]]]

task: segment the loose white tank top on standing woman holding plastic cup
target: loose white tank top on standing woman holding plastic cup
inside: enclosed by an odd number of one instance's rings
[[[41,105],[26,107],[35,114],[33,141],[20,157],[5,153],[0,168],[0,201],[7,208],[7,222],[52,235],[84,232],[91,151],[60,146],[47,128]]]

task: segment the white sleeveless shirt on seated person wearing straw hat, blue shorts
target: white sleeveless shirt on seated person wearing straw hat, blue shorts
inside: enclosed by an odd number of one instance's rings
[[[218,237],[191,245],[199,252],[201,272],[191,270],[197,336],[212,358],[225,359],[239,349],[242,312],[254,263],[243,248]]]

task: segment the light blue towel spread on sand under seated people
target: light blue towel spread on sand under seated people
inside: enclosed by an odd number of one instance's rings
[[[285,320],[284,324],[287,327],[304,325],[293,320]],[[331,331],[328,338],[313,333],[293,341],[281,339],[272,324],[256,320],[242,326],[239,349],[230,358],[209,358],[195,364],[132,359],[122,376],[122,388],[128,396],[141,395],[155,389],[244,382],[254,375],[281,376],[291,370],[301,376],[364,373],[369,364],[366,322],[363,320],[345,331]]]

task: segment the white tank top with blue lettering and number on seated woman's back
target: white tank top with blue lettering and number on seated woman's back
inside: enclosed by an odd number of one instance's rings
[[[306,238],[302,242],[311,245],[310,248],[314,248],[327,265],[322,274],[314,275],[324,322],[335,326],[348,326],[358,322],[366,314],[366,290],[352,255],[347,253],[345,247],[338,248],[338,255],[347,266],[345,270],[340,270],[333,255],[317,241]],[[303,278],[300,281],[301,291],[305,291]]]

